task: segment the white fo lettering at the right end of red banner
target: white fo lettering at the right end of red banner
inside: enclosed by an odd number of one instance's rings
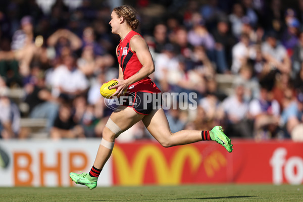
[[[287,150],[279,147],[274,150],[270,159],[270,165],[273,171],[273,183],[282,184],[283,176],[290,184],[301,184],[303,182],[303,159],[298,156],[292,156],[286,159]]]

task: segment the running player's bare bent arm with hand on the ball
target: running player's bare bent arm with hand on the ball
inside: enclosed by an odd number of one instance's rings
[[[141,36],[134,35],[130,39],[130,47],[131,51],[136,53],[139,62],[142,64],[142,67],[137,73],[135,73],[128,79],[114,79],[119,82],[119,84],[115,86],[117,87],[117,92],[115,94],[119,92],[118,95],[120,95],[123,89],[127,88],[130,84],[145,78],[146,76],[150,75],[155,71],[154,61],[149,52],[148,45]]]

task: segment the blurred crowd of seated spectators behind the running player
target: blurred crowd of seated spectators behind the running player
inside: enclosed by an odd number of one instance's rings
[[[99,87],[118,76],[120,40],[108,23],[123,4],[162,92],[197,93],[196,110],[165,111],[172,132],[303,140],[303,0],[0,1],[1,138],[102,137]],[[150,138],[142,123],[126,133]]]

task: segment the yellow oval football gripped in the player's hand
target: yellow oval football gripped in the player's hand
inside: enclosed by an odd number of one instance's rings
[[[127,91],[128,85],[122,79],[113,79],[104,83],[100,87],[100,94],[105,98],[112,99],[115,96],[124,95]]]

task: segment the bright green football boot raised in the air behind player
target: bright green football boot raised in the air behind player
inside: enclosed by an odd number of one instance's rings
[[[210,136],[212,140],[215,140],[222,146],[226,148],[228,152],[232,152],[232,144],[230,139],[224,134],[223,129],[221,126],[215,126],[211,131],[210,131]]]

